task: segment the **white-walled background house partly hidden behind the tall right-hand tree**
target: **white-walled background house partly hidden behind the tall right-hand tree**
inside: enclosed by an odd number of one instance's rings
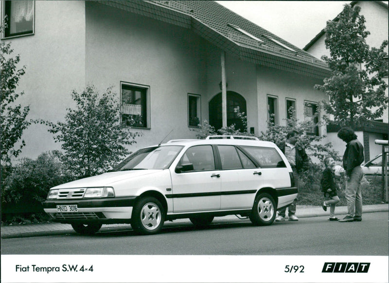
[[[366,43],[370,47],[379,48],[382,42],[389,38],[388,4],[383,1],[353,1],[350,4],[352,6],[358,5],[361,7],[360,15],[365,17],[366,30],[371,33],[366,38]],[[323,55],[330,57],[330,50],[326,49],[324,40],[325,32],[322,30],[303,48],[303,50],[311,53],[317,58],[320,58]],[[388,46],[386,47],[386,53],[388,54]],[[388,65],[388,57],[386,57],[386,61]],[[363,67],[364,66],[361,66],[361,68]],[[388,84],[388,77],[384,78],[384,81]],[[386,95],[388,96],[388,88],[386,89]],[[336,150],[343,153],[346,149],[346,144],[337,138],[336,133],[338,130],[338,127],[328,125],[327,139],[333,143]],[[369,161],[374,156],[382,153],[382,147],[376,145],[374,141],[376,139],[388,139],[388,108],[384,111],[381,118],[375,121],[369,121],[369,123],[354,130],[358,136],[358,140],[364,145],[365,161]]]

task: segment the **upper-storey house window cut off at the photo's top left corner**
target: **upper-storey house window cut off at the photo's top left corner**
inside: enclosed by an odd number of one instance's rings
[[[4,1],[4,37],[34,33],[35,1]]]

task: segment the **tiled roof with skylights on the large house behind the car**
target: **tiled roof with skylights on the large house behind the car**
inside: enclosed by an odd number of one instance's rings
[[[323,61],[215,1],[106,0],[99,2],[190,29],[219,49],[232,53],[244,61],[320,79],[330,74]],[[233,26],[243,29],[254,37],[239,32]]]

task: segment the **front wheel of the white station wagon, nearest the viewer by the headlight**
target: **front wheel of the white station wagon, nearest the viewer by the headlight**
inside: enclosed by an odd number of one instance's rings
[[[131,226],[135,233],[142,235],[159,233],[164,222],[165,211],[159,200],[145,197],[137,201],[131,217]]]

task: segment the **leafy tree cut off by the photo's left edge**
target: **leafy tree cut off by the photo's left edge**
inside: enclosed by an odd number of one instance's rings
[[[0,32],[3,26],[0,28]],[[29,106],[22,107],[16,103],[19,96],[24,92],[16,93],[20,77],[25,73],[25,66],[17,70],[20,56],[12,57],[13,49],[11,44],[4,40],[0,42],[0,147],[1,147],[1,164],[9,165],[11,157],[18,157],[21,149],[26,145],[21,139],[23,131],[31,124],[26,120],[30,111]],[[15,149],[15,144],[20,141],[21,145]]]

